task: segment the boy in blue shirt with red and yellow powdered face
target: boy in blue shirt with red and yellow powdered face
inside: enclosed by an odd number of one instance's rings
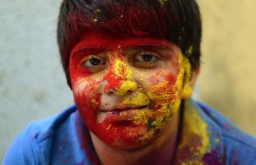
[[[75,105],[30,123],[3,164],[253,164],[253,137],[190,99],[197,3],[63,1],[57,38]]]

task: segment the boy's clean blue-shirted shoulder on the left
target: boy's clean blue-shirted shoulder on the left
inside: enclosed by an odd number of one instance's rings
[[[65,123],[75,111],[76,107],[72,105],[58,115],[29,123],[10,145],[3,164],[44,164],[38,149],[47,151],[51,145],[38,144],[41,141],[51,142],[58,127]]]

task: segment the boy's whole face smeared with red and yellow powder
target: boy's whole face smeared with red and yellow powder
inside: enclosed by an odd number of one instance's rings
[[[161,133],[178,112],[190,76],[189,63],[170,42],[120,39],[98,31],[73,48],[69,65],[84,123],[120,148],[144,145]]]

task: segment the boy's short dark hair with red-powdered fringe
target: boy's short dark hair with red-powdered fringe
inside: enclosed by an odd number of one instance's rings
[[[154,36],[175,43],[200,64],[201,17],[194,0],[63,0],[57,39],[67,83],[70,50],[88,30],[114,36]]]

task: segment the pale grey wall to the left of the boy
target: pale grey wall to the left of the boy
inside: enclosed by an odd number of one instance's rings
[[[73,102],[56,45],[60,3],[0,1],[0,160],[28,122]]]

